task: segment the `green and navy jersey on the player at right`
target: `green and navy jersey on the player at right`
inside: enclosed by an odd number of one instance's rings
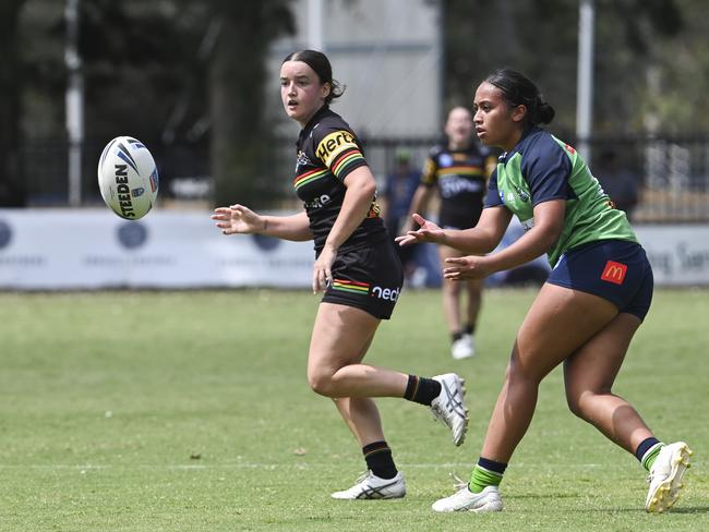
[[[534,225],[534,206],[551,200],[566,201],[562,234],[548,252],[552,267],[563,253],[581,244],[637,242],[625,213],[613,206],[578,152],[532,128],[512,152],[500,156],[485,208],[504,205],[527,230]]]

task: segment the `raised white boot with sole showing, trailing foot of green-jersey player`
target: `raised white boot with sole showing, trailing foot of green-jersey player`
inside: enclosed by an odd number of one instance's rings
[[[662,513],[672,508],[680,498],[682,475],[689,467],[692,449],[684,442],[665,445],[654,459],[648,475],[650,489],[645,499],[645,509]]]

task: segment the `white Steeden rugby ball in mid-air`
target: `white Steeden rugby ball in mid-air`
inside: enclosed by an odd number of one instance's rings
[[[158,177],[153,155],[131,136],[109,142],[98,160],[98,189],[106,205],[121,218],[145,216],[157,197]]]

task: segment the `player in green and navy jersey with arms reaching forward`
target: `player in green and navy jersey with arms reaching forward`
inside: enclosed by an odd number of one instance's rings
[[[491,255],[449,258],[445,277],[483,278],[542,253],[553,269],[517,332],[470,482],[433,509],[502,510],[497,486],[531,422],[539,384],[563,363],[569,409],[635,454],[650,473],[646,509],[662,512],[678,497],[692,451],[684,442],[659,442],[633,406],[612,392],[652,300],[645,251],[582,157],[538,126],[551,122],[554,110],[531,81],[497,71],[478,87],[473,109],[480,140],[505,150],[480,221],[465,231],[443,230],[416,215],[420,229],[397,240],[486,253],[515,215],[527,229],[519,240]]]

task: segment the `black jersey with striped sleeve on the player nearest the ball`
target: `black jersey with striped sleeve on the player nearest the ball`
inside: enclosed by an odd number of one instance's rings
[[[345,200],[345,178],[356,168],[366,166],[362,146],[343,118],[323,106],[300,132],[293,186],[303,201],[310,229],[320,253],[325,245]],[[343,243],[350,251],[385,238],[376,196],[366,217]]]

